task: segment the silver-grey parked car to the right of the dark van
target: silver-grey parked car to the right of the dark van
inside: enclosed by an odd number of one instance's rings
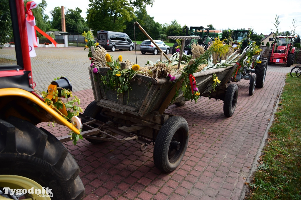
[[[164,42],[162,42],[161,40],[154,40],[154,42],[160,47],[160,49],[162,49],[162,51],[165,54],[169,54],[170,51],[170,47],[168,45],[166,45]],[[157,47],[151,42],[151,40],[144,40],[141,44],[140,44],[140,51],[142,54],[145,53],[153,53],[154,55],[157,55],[158,52],[160,52]]]

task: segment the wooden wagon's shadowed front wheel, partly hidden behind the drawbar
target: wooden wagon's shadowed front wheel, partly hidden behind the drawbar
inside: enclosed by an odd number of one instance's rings
[[[96,101],[92,101],[87,108],[84,111],[84,115],[94,118],[96,120],[102,121],[102,122],[107,122],[107,118],[101,116],[101,109],[102,107],[98,106],[96,104]],[[93,125],[92,125],[93,126]],[[88,130],[85,126],[82,127],[82,131],[86,131]],[[92,136],[98,136],[98,135],[92,135]],[[85,138],[86,140],[88,140],[89,142],[93,143],[93,144],[100,144],[102,142],[104,142],[103,140],[96,140],[96,139],[90,139],[90,138]]]

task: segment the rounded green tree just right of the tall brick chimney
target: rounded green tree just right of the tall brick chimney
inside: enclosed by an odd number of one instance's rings
[[[67,9],[65,14],[67,32],[82,33],[89,30],[85,23],[85,19],[81,16],[81,13],[82,10],[78,7],[76,7],[75,10]]]

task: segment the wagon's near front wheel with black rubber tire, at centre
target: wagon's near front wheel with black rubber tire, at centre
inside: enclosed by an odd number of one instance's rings
[[[161,127],[154,145],[155,166],[172,172],[182,161],[189,138],[187,121],[179,116],[169,118]]]

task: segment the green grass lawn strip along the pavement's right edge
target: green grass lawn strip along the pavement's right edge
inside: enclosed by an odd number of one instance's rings
[[[301,199],[301,76],[287,76],[246,199]]]

